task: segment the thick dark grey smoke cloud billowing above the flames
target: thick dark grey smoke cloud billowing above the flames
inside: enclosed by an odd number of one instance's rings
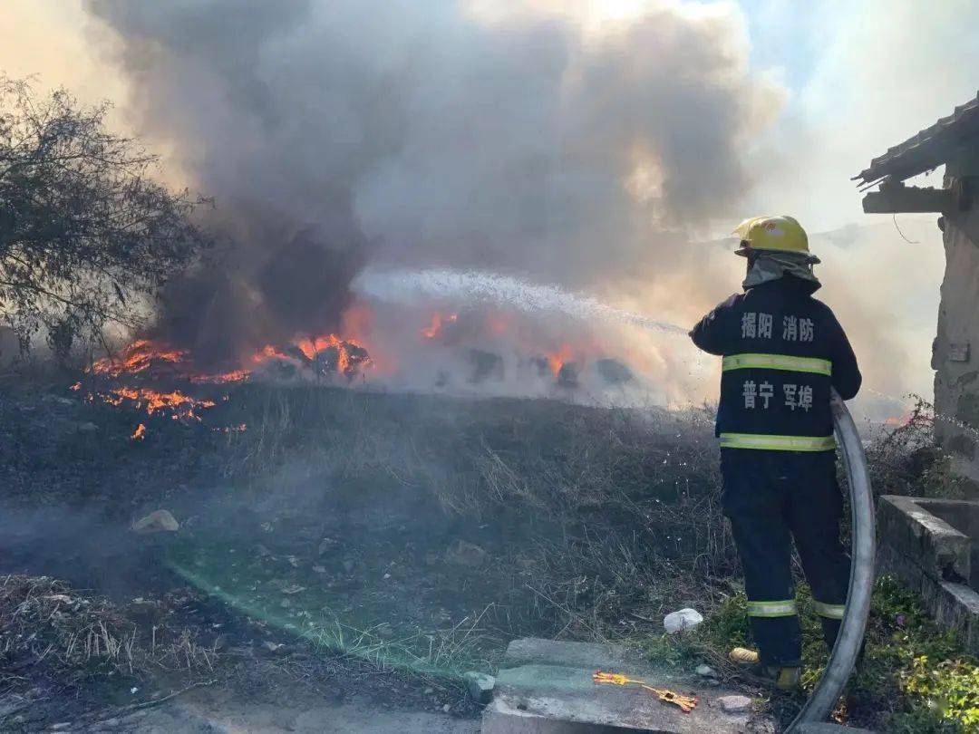
[[[600,289],[688,266],[779,107],[737,11],[540,6],[90,0],[141,132],[235,243],[168,295],[168,336],[229,356],[334,328],[367,262]]]

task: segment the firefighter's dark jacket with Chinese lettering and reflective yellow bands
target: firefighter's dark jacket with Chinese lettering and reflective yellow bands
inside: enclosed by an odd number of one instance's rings
[[[861,386],[857,357],[816,286],[791,275],[736,294],[690,337],[723,356],[717,434],[723,448],[823,451],[835,446],[830,386]]]

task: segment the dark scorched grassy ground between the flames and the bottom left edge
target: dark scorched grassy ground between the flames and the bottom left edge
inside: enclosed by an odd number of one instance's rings
[[[514,637],[643,633],[723,594],[682,573],[729,563],[696,468],[702,420],[240,386],[178,421],[69,384],[2,393],[0,573],[62,579],[23,597],[73,600],[55,619],[104,598],[119,638],[152,654],[107,668],[70,660],[60,632],[8,641],[12,730],[150,715],[204,685],[255,706],[473,717],[459,674],[492,670]],[[158,509],[180,529],[130,529]]]

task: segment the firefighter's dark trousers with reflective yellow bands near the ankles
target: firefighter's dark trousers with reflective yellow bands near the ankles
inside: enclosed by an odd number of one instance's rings
[[[840,542],[843,497],[835,452],[726,448],[721,471],[724,514],[744,569],[752,635],[762,662],[800,665],[792,539],[830,648],[850,580],[850,556]]]

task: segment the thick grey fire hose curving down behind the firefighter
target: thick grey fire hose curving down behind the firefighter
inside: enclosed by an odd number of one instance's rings
[[[866,619],[870,614],[870,594],[873,590],[875,529],[873,495],[866,469],[863,444],[857,433],[853,416],[836,390],[832,392],[831,407],[837,442],[843,455],[850,484],[850,514],[852,521],[850,586],[847,591],[846,612],[840,624],[836,644],[829,656],[826,670],[816,690],[799,711],[786,734],[816,731],[836,706],[844,686],[853,673],[863,643]],[[813,726],[813,728],[810,728]]]

